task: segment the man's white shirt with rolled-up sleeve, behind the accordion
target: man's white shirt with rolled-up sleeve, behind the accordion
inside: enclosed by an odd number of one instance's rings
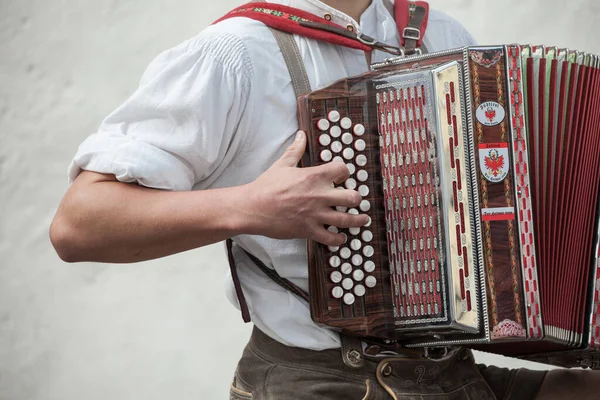
[[[373,0],[360,23],[318,0],[272,0],[391,45],[399,35],[383,0]],[[368,71],[364,52],[295,37],[311,87]],[[431,11],[429,51],[474,44],[447,15]],[[389,55],[374,52],[372,61]],[[262,23],[234,18],[159,55],[138,90],[79,147],[69,167],[114,174],[164,190],[203,190],[255,180],[292,143],[298,129],[290,76],[272,33]],[[285,278],[308,290],[306,242],[242,235],[235,241]],[[281,343],[322,350],[339,347],[338,335],[317,326],[308,304],[270,281],[240,251],[238,273],[252,321]],[[230,301],[238,306],[231,279]]]

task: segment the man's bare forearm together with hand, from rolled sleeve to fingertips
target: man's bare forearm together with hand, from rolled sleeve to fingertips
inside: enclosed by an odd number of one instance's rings
[[[59,256],[70,262],[131,263],[165,257],[240,234],[311,239],[340,246],[347,237],[326,229],[360,227],[362,196],[332,182],[350,177],[343,162],[297,168],[306,135],[254,182],[226,189],[167,192],[82,173],[69,188],[50,228]],[[356,215],[353,215],[356,214]]]

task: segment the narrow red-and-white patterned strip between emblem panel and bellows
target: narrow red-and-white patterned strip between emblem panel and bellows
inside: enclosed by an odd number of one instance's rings
[[[527,127],[525,122],[524,74],[521,64],[521,48],[516,45],[507,46],[506,54],[511,102],[512,159],[517,192],[516,211],[520,236],[524,300],[527,310],[527,335],[531,339],[541,339],[543,331],[533,232],[529,147],[527,144]]]

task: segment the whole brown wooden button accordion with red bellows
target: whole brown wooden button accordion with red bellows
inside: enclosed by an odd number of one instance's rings
[[[600,58],[390,59],[299,99],[302,161],[347,164],[362,228],[309,242],[315,322],[406,347],[600,368]]]

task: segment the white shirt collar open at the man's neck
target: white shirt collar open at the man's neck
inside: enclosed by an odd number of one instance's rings
[[[380,8],[384,8],[385,6],[382,3],[383,0],[372,0],[371,4],[361,17],[361,20],[366,15],[377,14],[380,12]],[[345,27],[346,29],[353,30],[355,32],[361,32],[361,24],[362,21],[355,21],[354,18],[350,17],[348,14],[345,14],[335,8],[319,1],[319,0],[269,0],[270,3],[283,4],[288,7],[294,7],[301,9],[303,11],[309,12],[321,18],[326,18],[331,22],[338,24],[340,26]]]

